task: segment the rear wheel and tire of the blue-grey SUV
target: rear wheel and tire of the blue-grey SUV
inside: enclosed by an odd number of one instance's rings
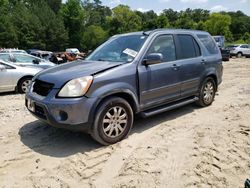
[[[196,102],[198,106],[206,107],[213,103],[216,93],[216,84],[213,78],[207,77],[200,88],[199,100]]]

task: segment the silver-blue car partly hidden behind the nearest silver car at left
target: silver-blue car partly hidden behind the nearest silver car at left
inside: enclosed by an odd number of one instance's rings
[[[0,53],[0,59],[14,63],[15,65],[40,67],[43,69],[55,66],[55,64],[50,61],[22,53]]]

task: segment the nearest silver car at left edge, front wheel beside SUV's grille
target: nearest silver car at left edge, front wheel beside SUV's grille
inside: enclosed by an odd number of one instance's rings
[[[0,60],[0,92],[18,91],[25,93],[32,77],[40,68],[16,66]]]

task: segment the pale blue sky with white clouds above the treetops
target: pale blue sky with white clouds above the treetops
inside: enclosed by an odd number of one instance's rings
[[[160,13],[163,9],[185,10],[186,8],[203,8],[213,12],[241,10],[250,16],[250,0],[102,0],[111,8],[126,4],[134,10],[154,10]]]

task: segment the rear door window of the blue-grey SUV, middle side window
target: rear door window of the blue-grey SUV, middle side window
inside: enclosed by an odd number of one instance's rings
[[[191,35],[177,35],[180,45],[179,59],[194,58],[201,55],[200,47]]]

